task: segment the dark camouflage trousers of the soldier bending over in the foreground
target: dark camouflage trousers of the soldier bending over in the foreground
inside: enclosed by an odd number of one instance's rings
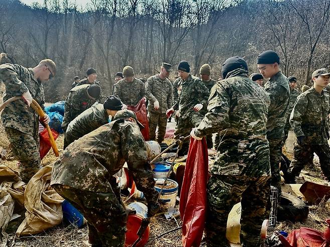
[[[104,247],[125,245],[127,215],[115,192],[93,192],[61,184],[52,187],[87,219],[89,243]]]

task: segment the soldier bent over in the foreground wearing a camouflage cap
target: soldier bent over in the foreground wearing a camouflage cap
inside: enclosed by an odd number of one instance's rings
[[[118,111],[111,123],[73,142],[54,163],[51,185],[87,219],[92,246],[125,244],[127,215],[114,177],[125,162],[147,200],[149,216],[159,209],[139,127],[134,112]]]

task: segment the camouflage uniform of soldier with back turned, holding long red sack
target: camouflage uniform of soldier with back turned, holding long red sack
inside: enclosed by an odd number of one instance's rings
[[[208,182],[207,246],[230,246],[227,218],[241,202],[241,243],[260,246],[260,230],[269,217],[269,146],[266,122],[269,96],[236,69],[212,88],[208,113],[196,128],[198,137],[220,132],[222,141]]]

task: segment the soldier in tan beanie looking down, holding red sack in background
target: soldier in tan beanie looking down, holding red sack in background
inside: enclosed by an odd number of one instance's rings
[[[127,106],[135,106],[145,96],[144,83],[134,77],[134,70],[125,66],[123,71],[124,79],[113,86],[113,95],[119,97],[123,103],[123,109]]]

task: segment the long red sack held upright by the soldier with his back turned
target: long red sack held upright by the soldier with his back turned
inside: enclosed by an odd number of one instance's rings
[[[208,146],[205,137],[201,141],[190,138],[180,196],[184,247],[201,245],[207,211],[208,166]]]

